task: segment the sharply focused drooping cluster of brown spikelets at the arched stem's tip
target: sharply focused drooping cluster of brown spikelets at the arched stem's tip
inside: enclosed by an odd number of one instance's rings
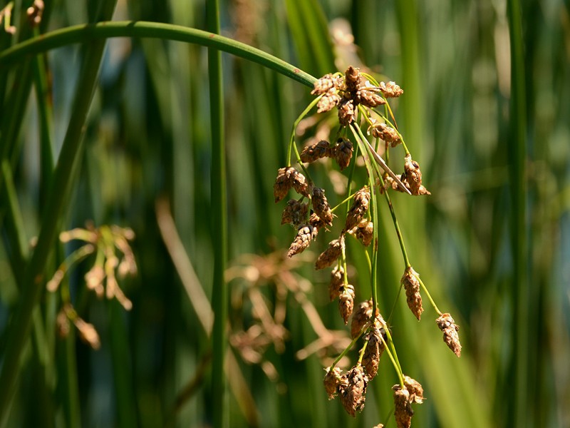
[[[403,90],[394,82],[373,84],[371,80],[373,80],[371,76],[361,73],[358,68],[349,66],[343,75],[341,73],[327,74],[316,81],[314,91],[311,93],[319,97],[316,101],[317,113],[337,108],[341,131],[337,133],[334,143],[321,140],[306,146],[300,155],[296,152],[297,161],[305,174],[292,166],[280,168],[274,184],[276,203],[286,198],[291,189],[299,194],[298,198],[291,199],[286,203],[281,216],[281,224],[289,223],[296,230],[296,236],[287,252],[291,258],[306,250],[321,229],[328,230],[333,224],[333,217],[336,217],[333,215],[334,208],[331,209],[325,191],[323,188],[314,185],[304,164],[313,163],[322,158],[331,158],[336,161],[340,170],[347,168],[353,157],[353,143],[340,135],[343,133],[343,129],[350,128],[356,137],[356,130],[363,126],[363,123],[368,126],[369,136],[376,138],[377,141],[384,141],[386,151],[388,148],[395,148],[400,144],[405,149],[404,171],[400,176],[395,175],[388,168],[378,153],[368,151],[371,157],[378,162],[378,165],[385,170],[385,174],[382,176],[378,174],[378,180],[370,182],[370,185],[375,183],[377,189],[371,189],[369,185],[364,185],[351,195],[349,198],[352,200],[351,206],[346,213],[346,220],[340,235],[328,244],[328,248],[318,255],[315,262],[317,270],[333,266],[328,285],[329,297],[331,301],[338,299],[338,310],[345,324],[348,324],[348,320],[352,316],[351,336],[353,337],[353,344],[357,340],[363,340],[363,347],[359,352],[356,365],[343,373],[341,368],[336,367],[336,362],[340,360],[341,355],[326,369],[324,378],[324,387],[328,397],[330,399],[339,397],[346,412],[352,416],[363,409],[367,384],[378,373],[378,364],[383,352],[390,353],[388,345],[392,343],[392,340],[388,325],[378,312],[378,307],[375,307],[376,304],[373,300],[361,302],[356,305],[355,309],[355,288],[348,282],[346,272],[346,235],[352,235],[366,247],[373,242],[374,225],[368,212],[372,200],[371,191],[377,190],[378,193],[383,194],[388,189],[392,189],[406,191],[411,195],[430,194],[422,183],[420,165],[413,161],[402,136],[395,125],[388,120],[386,113],[389,111],[391,115],[388,98],[400,96]],[[384,115],[376,110],[380,106],[385,109]],[[360,135],[363,136],[362,133]],[[356,138],[358,142],[358,137]],[[294,137],[291,138],[291,144],[294,144]],[[366,146],[359,147],[362,151],[366,149]],[[388,195],[385,196],[388,198]],[[390,209],[393,209],[389,199],[388,205]],[[401,236],[398,238],[405,254]],[[413,267],[409,265],[407,256],[405,256],[405,260],[406,267],[400,284],[405,290],[406,302],[410,311],[420,320],[423,312],[420,290],[423,289],[427,293],[427,289],[420,280],[418,272],[415,272]],[[455,325],[450,314],[442,313],[437,309],[431,297],[430,302],[440,315],[436,322],[443,332],[445,344],[457,357],[460,357],[461,345],[457,335],[457,325]],[[395,352],[393,345],[391,349]],[[343,355],[346,351],[343,352]],[[412,404],[423,402],[423,388],[419,382],[405,376],[399,367],[396,367],[396,371],[400,377],[400,384],[393,387],[395,419],[398,428],[410,427],[413,415]]]

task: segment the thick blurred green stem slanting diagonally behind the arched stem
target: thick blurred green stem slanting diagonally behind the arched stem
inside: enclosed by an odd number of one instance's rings
[[[115,1],[109,0],[105,2],[105,19],[109,19]],[[34,38],[32,41],[41,43]],[[35,46],[34,43],[26,41],[17,46]],[[93,44],[88,46],[86,56],[83,61],[83,67],[78,79],[76,96],[73,100],[71,108],[71,118],[66,132],[66,137],[63,140],[61,154],[58,159],[58,164],[53,175],[53,183],[48,195],[46,210],[42,215],[41,230],[38,236],[38,243],[36,249],[33,251],[32,258],[28,264],[28,268],[24,273],[24,287],[22,287],[22,295],[18,301],[16,311],[9,332],[7,335],[6,353],[4,355],[4,364],[0,372],[0,414],[4,415],[3,423],[6,423],[8,407],[11,397],[14,393],[14,386],[16,384],[16,377],[19,374],[19,365],[21,352],[24,345],[28,340],[28,332],[31,325],[31,316],[33,308],[36,307],[41,291],[44,286],[44,267],[48,255],[53,249],[56,242],[56,235],[58,224],[63,218],[64,208],[68,206],[68,195],[71,192],[74,179],[73,172],[76,172],[76,165],[79,162],[81,148],[83,147],[83,126],[86,122],[88,109],[93,98],[93,91],[95,90],[95,83],[100,65],[100,60],[103,56],[103,49],[105,47],[105,40],[93,41]],[[14,49],[9,49],[14,52]],[[2,60],[0,63],[6,61],[14,61],[16,58],[22,58],[22,53],[16,49],[16,54],[6,56],[6,51],[2,53]],[[31,51],[28,51],[28,54]],[[78,412],[78,409],[76,409]]]

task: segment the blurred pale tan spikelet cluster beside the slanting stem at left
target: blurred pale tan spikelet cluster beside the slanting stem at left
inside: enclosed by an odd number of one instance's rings
[[[115,225],[103,225],[100,228],[95,228],[88,224],[87,228],[76,228],[62,232],[59,235],[62,243],[79,240],[83,241],[83,245],[74,250],[61,263],[51,280],[46,284],[46,288],[50,292],[56,292],[71,268],[95,253],[95,263],[84,277],[87,288],[93,290],[99,298],[105,296],[109,300],[117,299],[125,310],[130,310],[133,303],[119,287],[118,278],[134,276],[137,273],[135,255],[128,242],[134,238],[133,230]],[[98,349],[100,341],[95,327],[78,315],[69,300],[68,291],[62,292],[62,300],[63,306],[56,320],[59,335],[66,337],[70,330],[70,322],[73,322],[81,339],[93,349]]]

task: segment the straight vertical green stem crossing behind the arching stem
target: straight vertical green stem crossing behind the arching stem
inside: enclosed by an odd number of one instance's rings
[[[207,28],[219,34],[219,4],[206,2]],[[212,39],[219,37],[212,35]],[[212,308],[212,404],[214,428],[227,426],[227,391],[224,356],[227,348],[228,287],[224,280],[227,260],[226,146],[224,143],[224,95],[222,90],[222,53],[208,51],[209,113],[212,137],[212,242],[214,245],[214,284]]]

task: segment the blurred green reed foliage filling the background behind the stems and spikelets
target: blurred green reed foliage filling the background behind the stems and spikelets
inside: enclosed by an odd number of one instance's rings
[[[18,31],[14,36],[1,32],[0,49],[30,36],[19,21],[30,3],[14,1]],[[42,31],[87,22],[93,4],[46,1],[51,13]],[[509,107],[506,1],[227,0],[221,6],[225,36],[316,77],[352,64],[397,81],[405,91],[394,105],[395,117],[432,195],[394,195],[395,210],[415,270],[440,309],[455,317],[463,345],[458,360],[443,344],[432,308],[426,307],[418,323],[400,295],[392,317],[396,349],[404,372],[423,384],[427,397],[416,407],[413,425],[509,427],[518,420],[528,427],[570,426],[568,2],[522,1],[524,69],[519,73],[525,79],[527,125],[526,146],[518,149]],[[204,17],[203,1],[140,0],[118,1],[113,19],[203,29]],[[41,58],[48,95],[39,102],[20,64],[0,73],[0,136],[9,144],[2,150],[10,150],[26,240],[41,227],[48,185],[38,109],[48,106],[57,159],[71,100],[81,91],[76,89],[81,46]],[[319,236],[299,260],[283,260],[294,231],[279,225],[283,204],[274,204],[272,187],[277,168],[286,164],[292,123],[311,101],[310,91],[239,58],[224,54],[223,61],[230,425],[372,427],[382,422],[394,427],[390,387],[397,378],[386,357],[356,419],[338,400],[328,402],[322,387],[322,368],[348,337],[336,303],[328,302],[328,272],[314,272],[311,263],[334,232]],[[19,121],[6,123],[15,108],[21,108]],[[310,124],[311,119],[304,123]],[[317,128],[304,126],[299,141],[318,132],[326,136],[330,127],[326,120]],[[14,138],[6,142],[7,135]],[[100,335],[100,349],[91,350],[73,330],[58,337],[61,295],[43,292],[38,309],[46,342],[30,340],[26,347],[7,425],[208,426],[219,403],[209,394],[211,314],[199,301],[200,290],[212,295],[217,245],[211,239],[217,225],[210,222],[206,50],[164,40],[108,41],[85,138],[61,230],[92,221],[135,232],[138,275],[120,282],[133,309],[127,312],[115,300],[98,300],[86,290],[83,275],[93,264],[90,259],[71,271],[64,280],[71,301]],[[516,190],[509,185],[517,150],[526,156],[522,212],[513,209]],[[311,168],[333,205],[340,202],[335,168],[325,163]],[[15,260],[4,187],[0,195],[4,355],[18,300],[14,269],[22,265]],[[388,315],[403,264],[388,210],[383,211],[379,301]],[[517,216],[527,239],[518,267],[510,228]],[[53,248],[46,277],[75,248],[73,243]],[[358,300],[366,300],[366,262],[356,246],[349,251]],[[522,283],[515,268],[524,270]],[[196,308],[202,308],[202,316]],[[528,344],[524,352],[517,348],[521,331]],[[354,362],[356,351],[349,357]]]

